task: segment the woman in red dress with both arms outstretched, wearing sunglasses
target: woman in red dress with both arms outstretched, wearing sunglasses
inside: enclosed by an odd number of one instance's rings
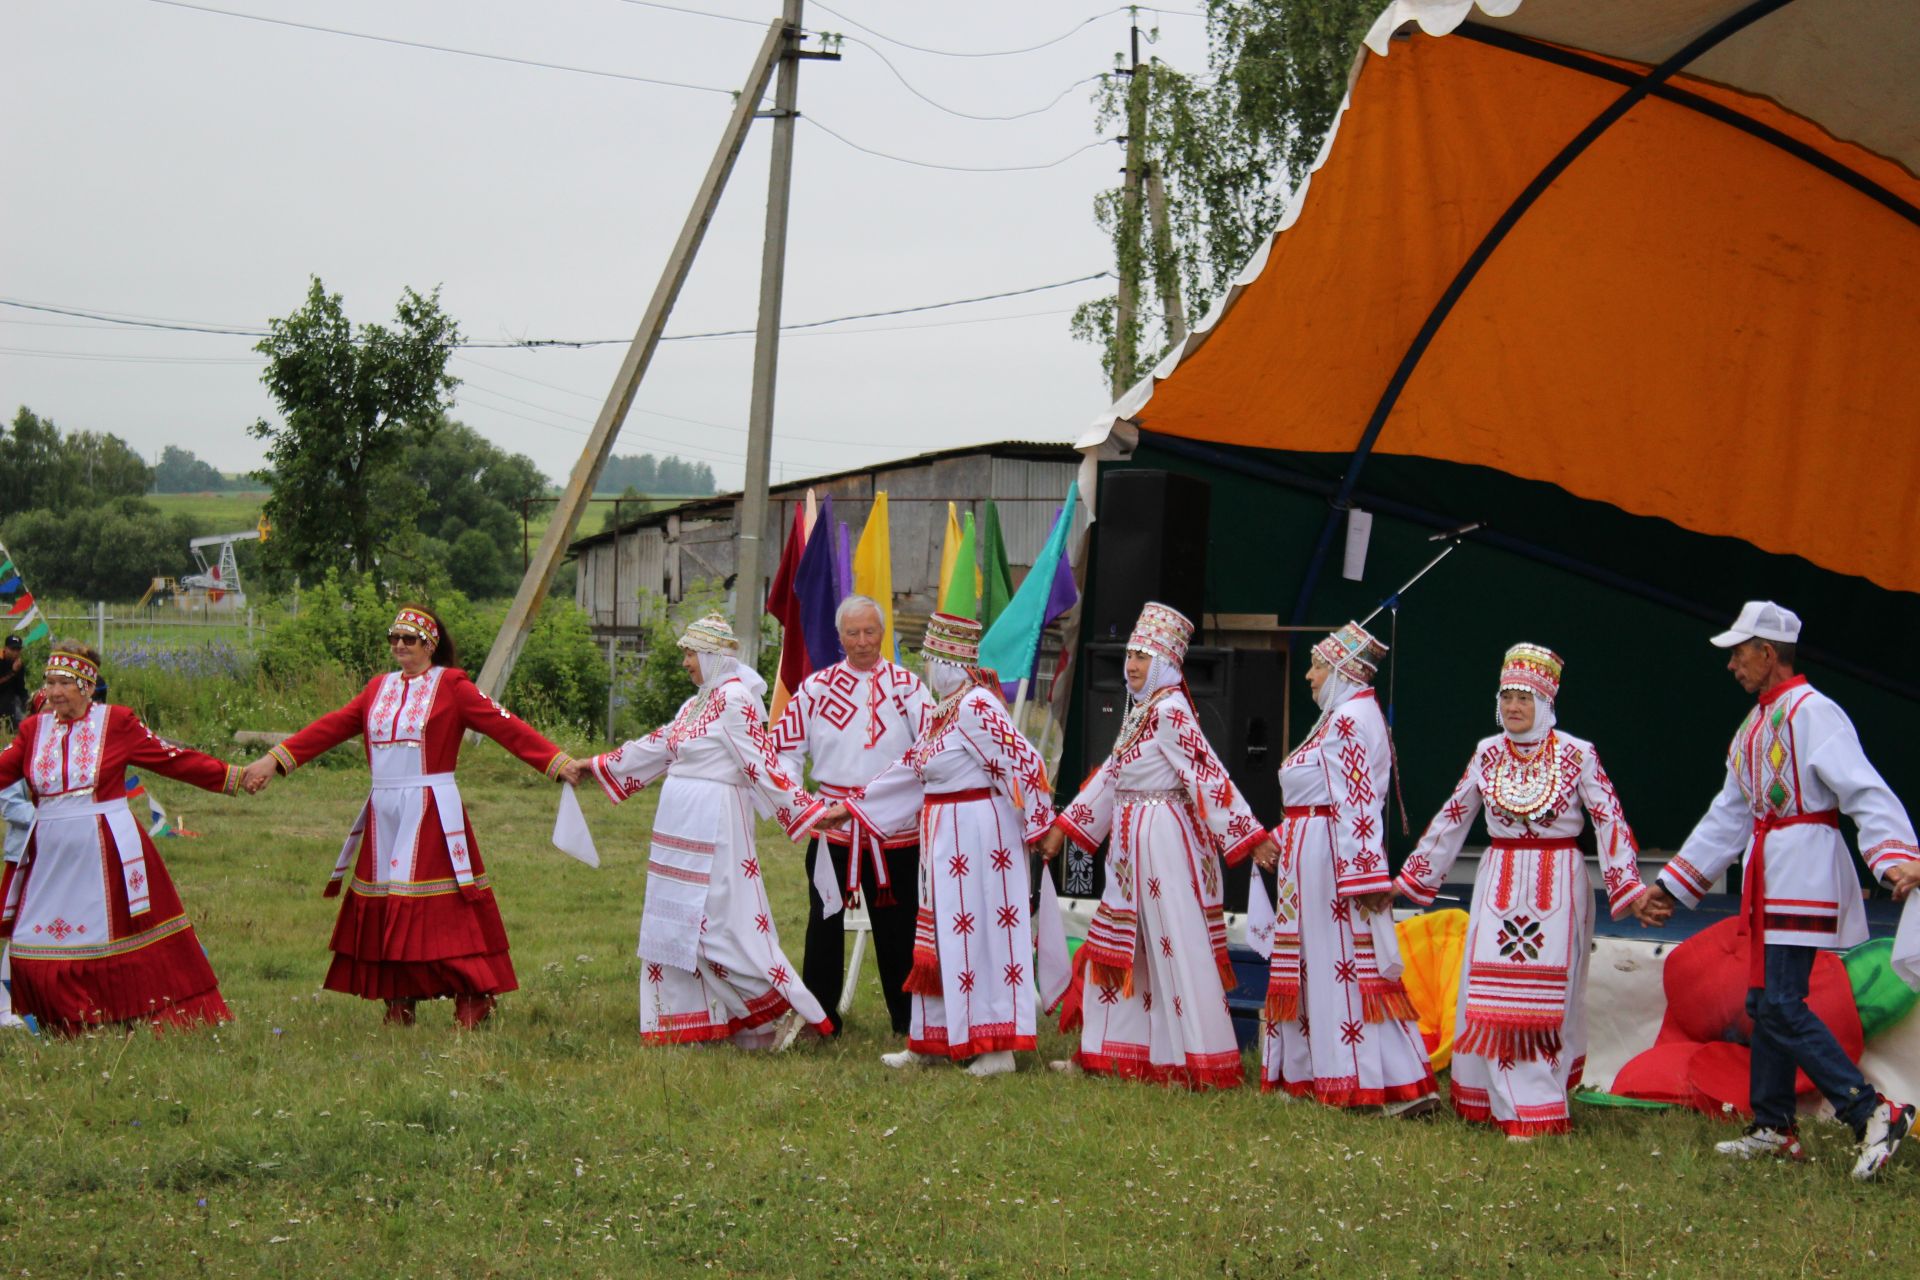
[[[388,629],[394,662],[336,712],[248,766],[248,791],[275,770],[292,773],[351,737],[365,737],[372,793],[340,846],[326,896],[353,879],[334,925],[326,988],[386,1002],[386,1021],[413,1025],[419,1000],[453,998],[476,1027],[493,998],[515,990],[507,929],[480,862],[453,766],[461,735],[486,733],[559,779],[572,756],[480,693],[453,666],[453,639],[424,608],[401,608]]]

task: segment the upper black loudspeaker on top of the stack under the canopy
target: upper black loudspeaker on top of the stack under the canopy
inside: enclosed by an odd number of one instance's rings
[[[1210,507],[1212,486],[1192,476],[1114,470],[1100,480],[1089,641],[1125,641],[1148,601],[1202,620]]]

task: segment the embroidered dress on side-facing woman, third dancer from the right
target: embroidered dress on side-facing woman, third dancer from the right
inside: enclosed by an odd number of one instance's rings
[[[1392,752],[1373,689],[1331,706],[1281,764],[1286,818],[1273,908],[1261,1088],[1338,1107],[1417,1102],[1438,1092],[1413,1004],[1380,963],[1398,960],[1386,892]]]

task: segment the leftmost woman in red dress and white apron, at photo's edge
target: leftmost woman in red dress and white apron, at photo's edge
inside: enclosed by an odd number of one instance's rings
[[[127,810],[127,770],[232,794],[240,770],[154,735],[127,706],[92,702],[100,654],[61,641],[46,710],[0,752],[0,787],[36,804],[27,852],[0,881],[13,938],[13,1006],[42,1027],[188,1027],[232,1017],[159,852]]]

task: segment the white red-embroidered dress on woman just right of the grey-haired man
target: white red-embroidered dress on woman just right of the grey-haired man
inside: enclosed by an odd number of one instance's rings
[[[920,818],[920,913],[906,1046],[973,1057],[1035,1046],[1027,844],[1054,821],[1046,768],[1000,699],[945,699],[906,758],[847,810],[874,831]]]

